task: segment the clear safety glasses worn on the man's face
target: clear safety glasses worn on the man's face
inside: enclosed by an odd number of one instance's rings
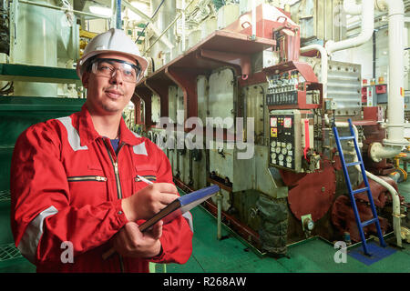
[[[125,82],[135,83],[141,74],[141,68],[139,65],[115,58],[95,58],[92,60],[91,72],[108,78],[113,77],[119,72]]]

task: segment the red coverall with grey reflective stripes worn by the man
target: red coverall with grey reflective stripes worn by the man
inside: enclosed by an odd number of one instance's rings
[[[137,175],[172,183],[167,156],[129,131],[122,118],[118,156],[109,139],[97,134],[86,105],[30,126],[18,137],[12,158],[15,246],[37,272],[148,272],[149,262],[186,263],[192,252],[190,214],[163,226],[159,256],[102,259],[128,222],[120,199],[147,186]],[[74,249],[73,263],[61,258],[67,244]]]

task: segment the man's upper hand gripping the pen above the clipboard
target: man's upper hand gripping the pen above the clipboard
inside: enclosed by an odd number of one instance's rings
[[[139,190],[133,196],[124,198],[121,207],[128,221],[149,219],[177,199],[177,187],[170,183],[155,183]]]

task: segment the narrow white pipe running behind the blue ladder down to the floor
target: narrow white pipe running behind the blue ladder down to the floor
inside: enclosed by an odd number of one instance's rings
[[[329,121],[329,116],[328,115],[324,115],[324,121],[326,123],[326,125],[330,125],[330,121]],[[335,123],[336,127],[349,127],[349,123],[347,122],[336,122]],[[362,145],[359,144],[358,142],[358,135],[357,135],[357,128],[355,125],[353,125],[354,127],[354,135],[356,137],[356,142],[357,145],[359,147],[361,147]],[[343,154],[348,154],[348,155],[352,155],[354,156],[354,162],[357,162],[357,155],[355,150],[352,152],[343,152]],[[362,168],[359,165],[354,166],[360,173],[362,173]],[[400,226],[400,198],[398,196],[397,191],[395,191],[395,187],[391,186],[390,184],[388,184],[387,182],[385,182],[383,179],[381,179],[378,176],[374,176],[372,173],[365,171],[365,174],[367,177],[371,178],[372,180],[374,180],[374,182],[380,184],[381,186],[384,186],[392,195],[392,200],[393,200],[393,229],[395,231],[395,237],[396,237],[396,241],[397,241],[397,246],[402,246],[402,237],[400,235],[400,231],[401,231],[401,226]]]

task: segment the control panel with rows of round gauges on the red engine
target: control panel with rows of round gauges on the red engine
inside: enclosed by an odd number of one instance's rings
[[[302,157],[306,136],[309,139],[307,146],[313,146],[313,126],[308,126],[307,131],[304,129],[304,121],[309,120],[306,119],[309,115],[310,111],[297,109],[270,112],[270,166],[304,172]]]

